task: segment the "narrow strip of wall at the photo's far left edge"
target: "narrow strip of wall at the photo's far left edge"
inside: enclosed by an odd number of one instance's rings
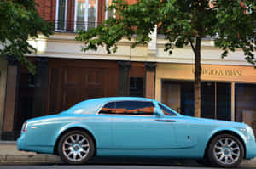
[[[6,76],[7,76],[7,61],[0,59],[0,138],[3,131],[3,110],[5,101],[5,88],[6,88]]]

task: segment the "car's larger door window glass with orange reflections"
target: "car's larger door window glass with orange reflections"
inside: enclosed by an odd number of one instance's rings
[[[143,101],[116,102],[116,114],[121,115],[153,115],[154,104]]]

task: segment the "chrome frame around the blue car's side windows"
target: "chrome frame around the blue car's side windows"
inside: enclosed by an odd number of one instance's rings
[[[102,110],[102,108],[103,108],[105,105],[109,104],[109,103],[115,103],[115,109],[116,109],[116,103],[117,103],[117,102],[129,102],[129,101],[133,101],[133,102],[148,102],[148,103],[152,103],[152,104],[154,105],[154,108],[156,107],[156,105],[154,104],[153,101],[143,101],[143,100],[118,100],[118,101],[109,101],[109,102],[107,102],[107,103],[105,103],[105,104],[102,104],[101,108],[96,112],[96,115],[151,116],[151,117],[155,115],[154,112],[153,112],[152,115],[137,115],[137,114],[135,114],[135,115],[127,114],[127,115],[125,115],[125,114],[118,114],[118,113],[114,113],[114,114],[112,114],[112,113],[106,113],[106,114],[105,114],[105,113],[100,113],[101,110]]]

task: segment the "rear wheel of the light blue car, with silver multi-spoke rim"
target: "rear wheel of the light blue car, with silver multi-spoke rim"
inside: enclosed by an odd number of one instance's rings
[[[84,164],[94,154],[95,144],[87,132],[75,130],[65,133],[58,144],[58,154],[67,164]]]

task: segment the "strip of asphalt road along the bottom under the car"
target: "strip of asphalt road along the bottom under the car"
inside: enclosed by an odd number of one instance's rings
[[[0,164],[0,169],[211,169],[212,167],[205,166],[149,166],[149,165],[83,165],[83,166],[68,166],[68,165],[50,165],[50,164]],[[239,167],[245,168],[245,167]],[[251,169],[253,167],[247,167]],[[212,168],[213,169],[213,168]],[[214,167],[214,169],[218,169]]]

